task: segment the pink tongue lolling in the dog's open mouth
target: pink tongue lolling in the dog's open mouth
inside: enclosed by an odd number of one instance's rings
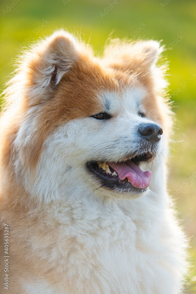
[[[130,183],[136,188],[147,188],[150,184],[151,171],[142,171],[134,162],[111,163],[109,164],[121,180],[128,178]]]

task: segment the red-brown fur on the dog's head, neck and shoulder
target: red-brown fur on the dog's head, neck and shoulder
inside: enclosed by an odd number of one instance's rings
[[[43,67],[44,56],[48,54],[48,50],[54,51],[59,42],[65,42],[64,38],[61,40],[59,38],[62,37],[57,36],[50,41],[48,47],[43,47],[43,45],[39,47],[38,45],[33,49],[35,52],[32,51],[26,55],[25,61],[19,69],[19,71],[25,72],[23,83],[26,90],[24,96],[17,111],[14,111],[13,118],[7,116],[6,112],[3,114],[2,121],[6,121],[7,126],[1,131],[0,153],[1,166],[4,170],[1,170],[0,210],[2,229],[4,222],[8,222],[10,225],[10,277],[16,271],[19,276],[23,275],[25,269],[27,277],[28,275],[29,277],[44,275],[44,279],[49,284],[58,283],[61,285],[62,283],[65,285],[66,277],[63,276],[60,268],[58,269],[60,260],[57,258],[56,261],[50,263],[49,267],[47,258],[40,260],[39,255],[29,249],[30,236],[36,235],[37,242],[43,246],[43,243],[47,244],[49,239],[56,240],[61,234],[61,229],[56,229],[60,226],[58,222],[50,224],[52,208],[44,203],[42,203],[42,207],[39,207],[37,203],[28,198],[23,182],[14,171],[15,152],[18,151],[13,149],[13,141],[26,113],[32,106],[40,105],[36,113],[36,133],[32,140],[20,150],[22,160],[31,173],[39,163],[44,142],[58,126],[65,121],[92,116],[102,111],[102,106],[97,99],[97,95],[102,89],[120,92],[127,85],[134,83],[141,85],[148,92],[144,99],[147,115],[157,121],[162,126],[163,132],[166,131],[166,133],[170,127],[168,124],[170,120],[168,116],[165,117],[163,114],[162,108],[165,108],[165,102],[162,98],[158,98],[158,94],[162,95],[162,93],[154,91],[153,77],[149,73],[147,61],[144,62],[137,54],[130,58],[130,54],[127,53],[123,54],[119,61],[110,64],[106,55],[104,61],[107,61],[107,66],[104,68],[99,59],[93,57],[91,50],[85,49],[83,44],[78,53],[79,57],[72,62],[69,75],[65,73],[55,89],[48,92],[47,99],[35,98],[32,103],[29,93],[32,88],[37,86],[36,79],[39,78],[40,69]],[[69,43],[69,40],[67,39],[66,42]],[[44,46],[46,46],[45,44],[47,43],[44,43]],[[72,45],[68,44],[67,46]],[[131,45],[129,46],[131,48]],[[63,243],[63,240],[61,242]],[[75,246],[74,239],[70,239],[70,246]],[[43,255],[47,255],[47,252],[44,253],[44,246],[41,252]],[[3,251],[1,250],[2,255]],[[2,285],[2,278],[0,281]],[[71,289],[68,280],[66,287]],[[17,276],[10,280],[10,289],[14,290],[10,290],[9,293],[23,293]]]

